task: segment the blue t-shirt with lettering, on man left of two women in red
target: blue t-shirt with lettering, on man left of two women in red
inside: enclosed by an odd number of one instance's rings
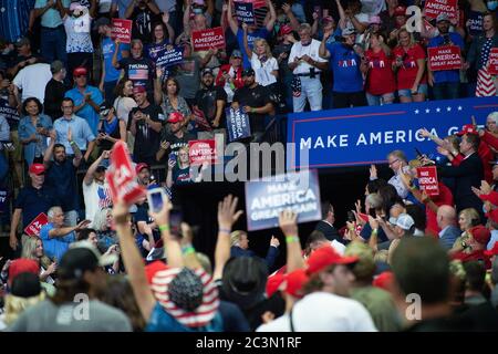
[[[332,90],[343,93],[363,91],[360,55],[342,43],[328,44],[326,50],[330,52],[329,62],[334,79]]]

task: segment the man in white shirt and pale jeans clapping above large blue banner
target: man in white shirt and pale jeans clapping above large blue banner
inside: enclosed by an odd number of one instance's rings
[[[326,60],[320,58],[320,42],[311,38],[311,27],[299,27],[300,41],[292,45],[289,54],[289,69],[294,74],[292,80],[293,112],[303,112],[307,100],[311,111],[322,110],[322,83],[320,73],[326,70]]]

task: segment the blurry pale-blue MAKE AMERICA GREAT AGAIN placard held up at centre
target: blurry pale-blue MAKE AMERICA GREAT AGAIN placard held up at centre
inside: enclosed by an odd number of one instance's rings
[[[315,169],[246,183],[249,231],[278,227],[279,214],[286,209],[298,214],[298,222],[321,219],[320,185]]]

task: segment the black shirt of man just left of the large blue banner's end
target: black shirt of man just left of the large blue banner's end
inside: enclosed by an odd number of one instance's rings
[[[237,102],[241,107],[250,106],[252,108],[261,108],[266,106],[270,101],[270,91],[261,85],[257,85],[253,88],[241,87],[236,91],[234,95],[234,102]],[[264,116],[266,114],[250,113],[248,112],[251,133],[264,131]]]

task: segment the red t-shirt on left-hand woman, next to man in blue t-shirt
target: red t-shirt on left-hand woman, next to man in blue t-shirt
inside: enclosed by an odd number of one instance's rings
[[[383,50],[378,51],[378,53],[367,50],[365,58],[370,67],[366,76],[366,92],[372,95],[394,92],[396,90],[396,81],[392,69],[392,55],[387,56]]]

